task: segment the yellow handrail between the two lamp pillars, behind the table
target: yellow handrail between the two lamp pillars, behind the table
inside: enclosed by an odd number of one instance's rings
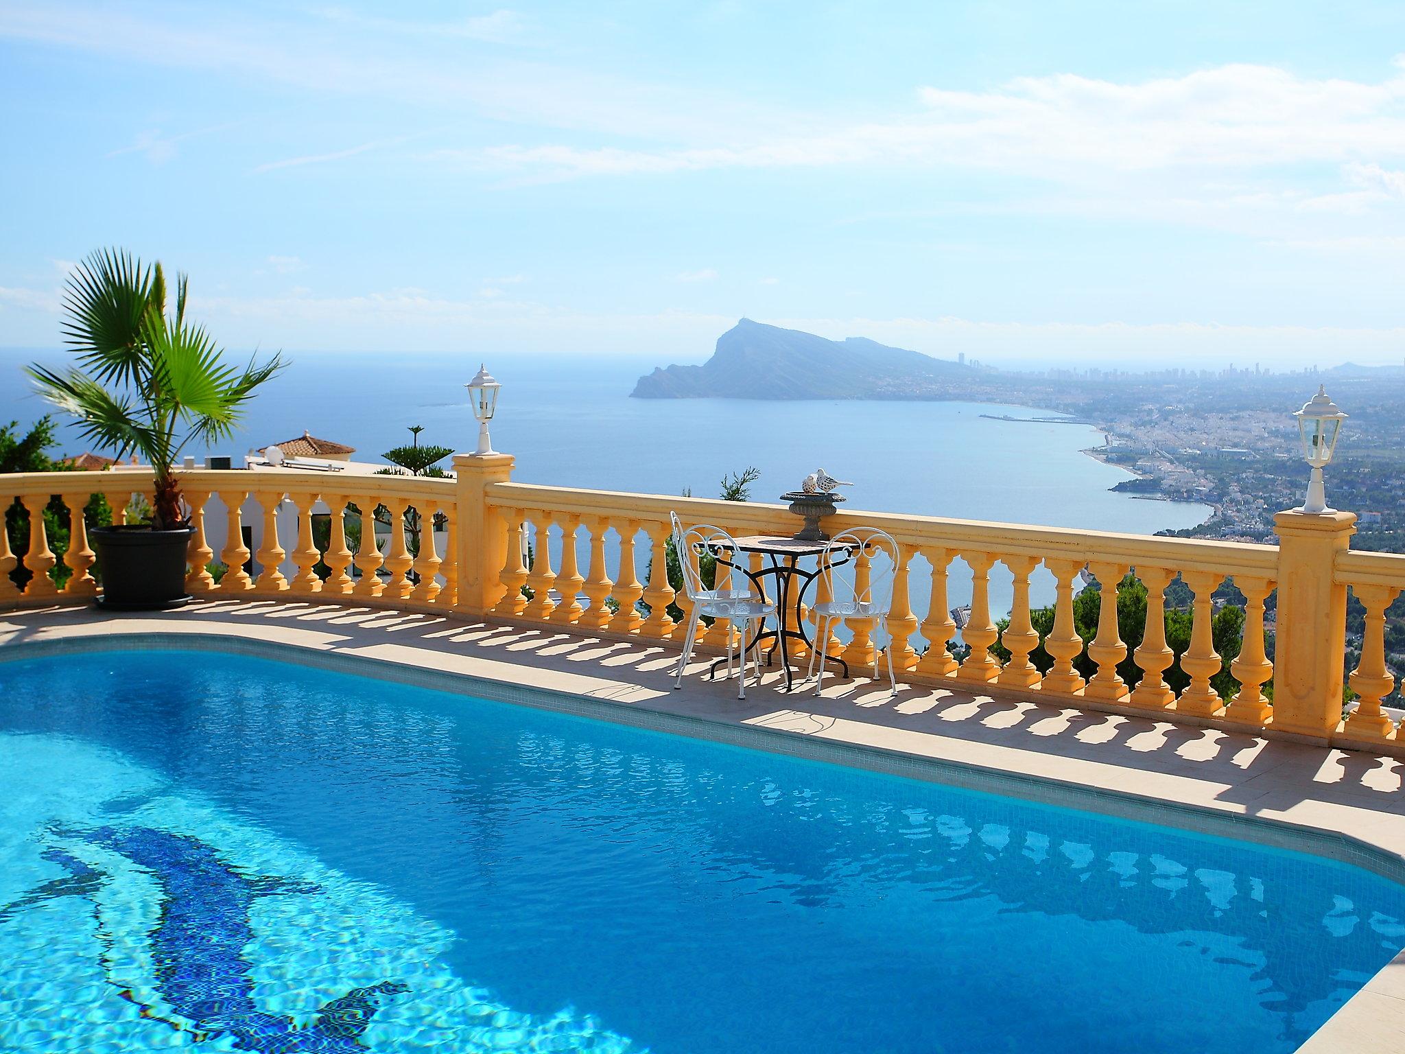
[[[766,502],[725,502],[718,497],[674,497],[516,482],[492,483],[486,488],[486,495],[489,505],[531,512],[639,520],[667,520],[670,512],[677,512],[688,523],[718,523],[785,534],[799,524],[784,505]],[[1238,573],[1272,579],[1279,559],[1277,545],[1253,542],[1034,527],[860,509],[840,509],[825,519],[830,533],[861,524],[881,527],[899,541],[913,545],[1073,559],[1083,564],[1103,561],[1173,571],[1215,571],[1225,576]]]

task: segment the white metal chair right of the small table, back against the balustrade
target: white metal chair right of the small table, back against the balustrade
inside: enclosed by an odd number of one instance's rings
[[[880,558],[875,564],[874,558]],[[888,646],[881,649],[888,656],[888,687],[898,694],[898,680],[892,673],[892,634],[888,632],[888,611],[892,610],[892,576],[898,566],[898,542],[887,531],[877,527],[850,527],[840,531],[825,547],[819,558],[819,578],[823,586],[821,600],[811,607],[815,613],[815,646],[809,652],[808,676],[815,673],[815,655],[819,653],[819,676],[815,677],[815,694],[825,680],[825,659],[829,658],[829,634],[835,623],[846,618],[873,620],[874,637],[874,680],[878,680],[880,631],[888,635]]]

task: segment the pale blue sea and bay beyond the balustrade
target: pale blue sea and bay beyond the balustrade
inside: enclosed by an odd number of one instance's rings
[[[59,350],[0,350],[0,424],[48,412],[22,372],[27,363],[66,365]],[[250,403],[236,433],[185,453],[228,454],[309,431],[357,448],[357,460],[412,441],[472,450],[478,423],[464,385],[482,356],[302,353]],[[847,509],[946,516],[1048,527],[1155,534],[1193,527],[1210,506],[1111,490],[1130,474],[1086,451],[1106,437],[1087,424],[1034,420],[1047,408],[969,402],[632,399],[635,379],[659,361],[572,354],[493,356],[502,382],[493,447],[517,458],[513,478],[555,486],[698,497],[717,495],[728,474],[754,467],[752,500],[773,502],[816,468],[851,481]],[[1013,419],[1013,420],[1012,420]],[[59,450],[89,448],[77,430],[59,431]],[[445,462],[447,464],[447,462]],[[917,593],[924,593],[915,583]],[[991,601],[1009,609],[1010,580],[992,572]],[[1031,600],[1050,603],[1043,569]],[[969,599],[957,564],[951,603]]]

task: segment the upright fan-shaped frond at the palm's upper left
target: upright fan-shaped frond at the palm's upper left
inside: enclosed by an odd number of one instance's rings
[[[150,268],[131,253],[112,249],[93,253],[69,275],[63,339],[98,382],[135,379],[150,292]]]

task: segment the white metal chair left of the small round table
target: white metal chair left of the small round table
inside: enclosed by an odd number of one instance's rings
[[[690,607],[688,635],[683,644],[683,655],[679,656],[673,687],[683,687],[683,669],[693,658],[698,617],[707,616],[708,618],[725,618],[732,625],[732,632],[726,635],[726,676],[732,676],[732,652],[739,646],[742,653],[738,656],[736,697],[746,698],[746,634],[752,630],[753,623],[760,624],[767,616],[776,614],[776,604],[750,589],[750,580],[746,580],[746,589],[732,587],[735,575],[743,572],[733,562],[738,549],[731,534],[721,527],[705,523],[684,530],[677,513],[669,513],[669,517],[673,520],[673,548],[679,554],[679,564],[683,565],[683,593]],[[712,557],[717,566],[711,589],[702,582],[700,561],[704,555]],[[757,631],[759,628],[757,625]],[[738,631],[740,631],[739,644]],[[757,634],[752,635],[754,638]],[[762,649],[759,645],[753,645],[752,655],[759,684],[762,680]]]

